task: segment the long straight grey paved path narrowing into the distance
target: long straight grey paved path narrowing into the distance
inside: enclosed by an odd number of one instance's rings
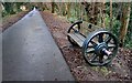
[[[31,11],[2,37],[3,81],[74,80],[38,11]]]

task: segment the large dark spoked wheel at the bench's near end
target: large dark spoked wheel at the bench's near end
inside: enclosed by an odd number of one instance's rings
[[[118,52],[117,38],[105,30],[88,34],[82,44],[82,55],[90,65],[107,65]]]

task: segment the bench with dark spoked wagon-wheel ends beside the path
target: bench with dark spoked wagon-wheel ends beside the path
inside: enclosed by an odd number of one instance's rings
[[[82,21],[77,21],[72,24],[72,27],[67,31],[68,41],[73,45],[78,45],[82,49],[82,55],[90,65],[106,65],[110,63],[118,51],[117,38],[106,30],[95,30],[86,37],[84,33],[80,32],[81,23]],[[94,27],[99,28],[91,23],[88,24],[89,29],[92,29]],[[106,39],[103,39],[105,35]],[[95,38],[98,38],[97,42],[94,41]],[[91,53],[94,54],[91,55],[91,58],[89,58]]]

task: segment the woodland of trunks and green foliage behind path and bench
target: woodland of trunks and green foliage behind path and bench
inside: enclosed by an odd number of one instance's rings
[[[69,22],[87,21],[110,30],[120,46],[132,48],[132,2],[2,2],[2,19],[36,7],[65,17]]]

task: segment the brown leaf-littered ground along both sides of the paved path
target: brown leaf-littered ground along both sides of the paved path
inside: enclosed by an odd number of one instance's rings
[[[118,58],[114,59],[111,66],[89,66],[84,60],[80,49],[73,46],[67,40],[66,34],[70,23],[65,18],[52,14],[48,11],[41,13],[77,81],[132,80],[132,73],[130,72],[130,70],[132,71],[132,50],[119,49]],[[2,28],[7,29],[24,14],[8,18]]]

